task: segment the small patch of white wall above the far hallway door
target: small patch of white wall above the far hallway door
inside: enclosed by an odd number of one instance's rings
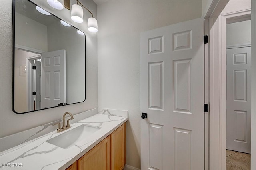
[[[226,25],[226,45],[251,43],[251,20]]]

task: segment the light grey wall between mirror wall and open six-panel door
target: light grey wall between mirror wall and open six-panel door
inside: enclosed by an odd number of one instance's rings
[[[140,168],[140,32],[200,18],[202,1],[98,5],[98,105],[128,110],[126,164]]]

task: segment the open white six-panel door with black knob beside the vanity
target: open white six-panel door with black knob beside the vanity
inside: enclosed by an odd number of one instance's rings
[[[141,170],[203,170],[203,20],[143,32],[140,73]]]

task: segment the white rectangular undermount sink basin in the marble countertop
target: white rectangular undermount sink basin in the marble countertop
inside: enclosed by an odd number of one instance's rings
[[[100,128],[80,125],[66,132],[64,131],[62,134],[51,138],[46,142],[67,149],[70,146],[74,145],[76,142],[78,142],[80,139],[88,138],[90,134],[93,134],[97,130],[100,130]]]

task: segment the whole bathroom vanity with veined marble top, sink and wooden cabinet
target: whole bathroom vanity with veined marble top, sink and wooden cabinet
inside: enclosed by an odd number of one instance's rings
[[[128,112],[97,110],[82,120],[90,113],[74,115],[78,122],[63,132],[54,130],[0,152],[1,170],[18,164],[19,170],[122,170]]]

